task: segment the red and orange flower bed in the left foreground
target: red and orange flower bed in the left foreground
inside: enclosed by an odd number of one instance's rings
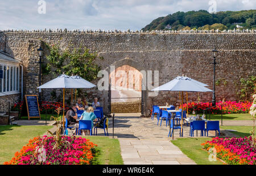
[[[55,148],[53,137],[34,137],[16,152],[4,165],[89,165],[95,156],[96,144],[88,139],[75,136],[61,136],[61,145]]]

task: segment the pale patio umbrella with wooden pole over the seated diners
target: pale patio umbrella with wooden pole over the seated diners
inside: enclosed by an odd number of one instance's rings
[[[63,118],[65,110],[65,89],[90,89],[96,87],[93,83],[86,81],[85,79],[78,76],[67,76],[61,74],[55,79],[44,83],[42,86],[39,86],[38,89],[63,89]],[[64,125],[64,119],[63,119]]]

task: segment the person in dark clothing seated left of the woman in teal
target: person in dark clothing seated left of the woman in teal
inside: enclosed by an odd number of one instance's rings
[[[68,120],[68,127],[73,127],[72,133],[75,135],[76,128],[79,127],[79,124],[77,123],[77,110],[76,110],[76,104],[72,104],[69,110],[66,114],[66,120]]]

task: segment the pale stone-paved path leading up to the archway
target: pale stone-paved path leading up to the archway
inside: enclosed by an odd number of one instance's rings
[[[195,164],[168,138],[168,127],[139,114],[116,114],[114,134],[118,136],[124,164],[181,165]],[[112,127],[112,121],[110,121]],[[109,129],[112,132],[112,128]],[[175,132],[178,136],[179,132]]]

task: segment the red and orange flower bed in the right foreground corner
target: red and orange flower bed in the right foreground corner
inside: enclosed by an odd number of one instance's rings
[[[210,148],[216,149],[216,157],[225,161],[226,164],[255,165],[256,151],[251,143],[251,136],[225,139],[214,137],[201,145],[208,151]]]

